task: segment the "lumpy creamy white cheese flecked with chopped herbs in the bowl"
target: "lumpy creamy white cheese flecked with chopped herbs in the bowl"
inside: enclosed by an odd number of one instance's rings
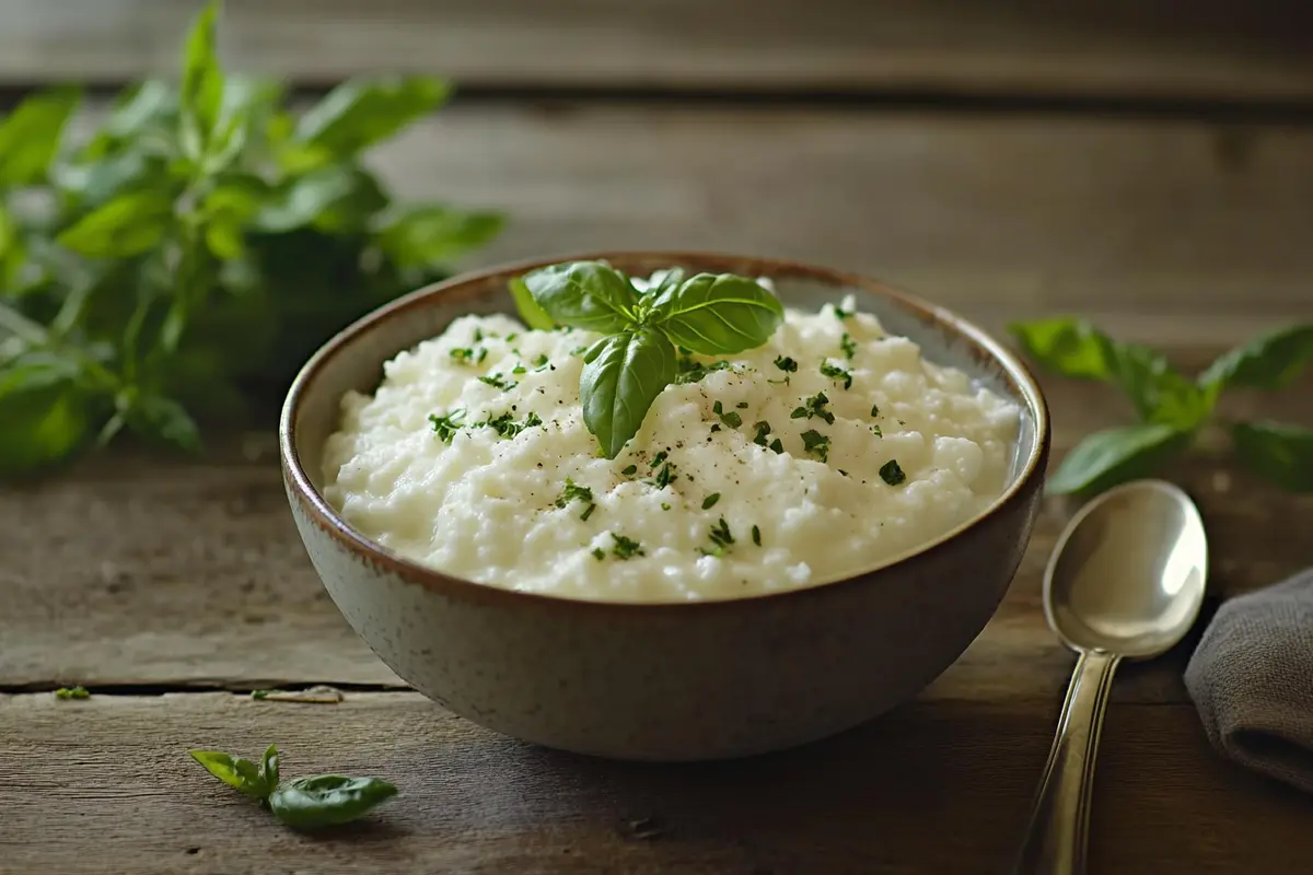
[[[733,598],[872,568],[999,496],[1019,411],[852,314],[851,298],[840,307],[789,310],[764,346],[666,388],[614,459],[579,405],[595,335],[457,319],[389,361],[373,397],[343,399],[326,495],[402,556],[582,600]],[[851,373],[851,386],[822,365]],[[462,426],[448,443],[431,416]],[[759,422],[769,432],[755,439]],[[897,485],[881,476],[892,460],[906,476]]]

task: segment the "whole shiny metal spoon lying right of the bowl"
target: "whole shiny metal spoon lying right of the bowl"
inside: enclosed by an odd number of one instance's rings
[[[1067,523],[1044,573],[1044,615],[1079,653],[1016,865],[1018,875],[1081,875],[1094,756],[1112,673],[1159,656],[1194,624],[1208,543],[1199,510],[1162,480],[1104,492]]]

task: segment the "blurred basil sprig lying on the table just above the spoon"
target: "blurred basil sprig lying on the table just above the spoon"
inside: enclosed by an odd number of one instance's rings
[[[1012,325],[1027,356],[1075,379],[1117,386],[1140,422],[1095,432],[1062,460],[1048,483],[1056,495],[1092,495],[1153,474],[1184,451],[1215,416],[1226,388],[1279,390],[1313,361],[1313,325],[1291,325],[1224,353],[1196,379],[1148,346],[1108,337],[1085,319]],[[1313,429],[1281,422],[1229,424],[1232,447],[1254,472],[1296,492],[1313,491]]]

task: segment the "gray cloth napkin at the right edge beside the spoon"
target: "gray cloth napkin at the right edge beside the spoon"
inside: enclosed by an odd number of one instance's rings
[[[1313,568],[1225,602],[1186,687],[1222,754],[1313,792]]]

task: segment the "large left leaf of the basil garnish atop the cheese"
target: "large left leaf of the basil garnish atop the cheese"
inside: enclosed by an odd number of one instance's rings
[[[533,300],[562,325],[603,333],[634,325],[634,287],[601,261],[572,261],[521,277]]]

